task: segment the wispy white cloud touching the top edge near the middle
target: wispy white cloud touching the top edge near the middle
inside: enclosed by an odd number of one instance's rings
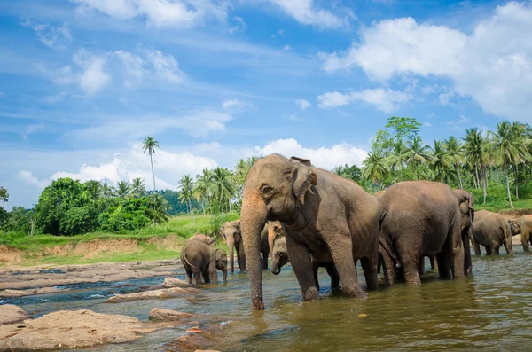
[[[317,8],[314,0],[267,0],[277,4],[283,11],[304,25],[319,28],[347,27],[347,20],[340,19],[332,12]],[[279,32],[278,32],[279,33]],[[282,33],[279,33],[282,35]]]

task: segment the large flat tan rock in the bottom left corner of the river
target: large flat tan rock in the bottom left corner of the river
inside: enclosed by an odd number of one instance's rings
[[[23,325],[0,327],[0,351],[83,348],[137,340],[162,325],[141,323],[136,317],[98,314],[90,310],[60,310]]]

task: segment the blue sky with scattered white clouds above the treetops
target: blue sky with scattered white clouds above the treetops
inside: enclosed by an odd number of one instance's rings
[[[532,122],[532,2],[0,0],[0,185],[157,188],[281,153],[362,165],[390,116],[428,144]],[[4,204],[4,207],[6,205]]]

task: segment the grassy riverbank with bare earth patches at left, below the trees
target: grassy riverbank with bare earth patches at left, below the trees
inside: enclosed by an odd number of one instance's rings
[[[224,221],[238,218],[239,214],[231,213],[224,216]],[[13,253],[21,253],[23,259],[17,264],[22,266],[153,261],[179,257],[180,246],[186,239],[195,233],[216,236],[221,226],[220,216],[212,220],[210,215],[196,215],[194,219],[191,216],[175,216],[168,223],[126,233],[93,232],[77,236],[32,237],[17,232],[0,233],[0,245],[7,246],[8,251]],[[218,242],[216,246],[223,248],[221,239]],[[79,253],[80,248],[85,248],[83,244],[87,245],[90,253]],[[124,244],[123,251],[116,247],[121,244]]]

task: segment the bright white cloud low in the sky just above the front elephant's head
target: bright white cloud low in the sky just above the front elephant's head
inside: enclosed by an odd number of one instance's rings
[[[331,148],[322,146],[317,149],[304,148],[298,141],[293,138],[278,139],[270,142],[263,147],[255,147],[255,150],[260,155],[269,155],[271,153],[279,153],[290,158],[291,156],[298,156],[301,158],[310,159],[313,165],[318,168],[332,169],[338,165],[357,165],[362,166],[362,161],[367,156],[364,149],[342,143],[340,145],[332,145]]]

